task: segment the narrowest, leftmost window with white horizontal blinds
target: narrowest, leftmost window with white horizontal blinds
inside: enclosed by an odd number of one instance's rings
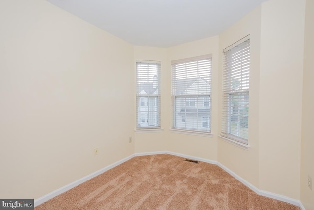
[[[160,128],[160,62],[136,61],[137,129]]]

